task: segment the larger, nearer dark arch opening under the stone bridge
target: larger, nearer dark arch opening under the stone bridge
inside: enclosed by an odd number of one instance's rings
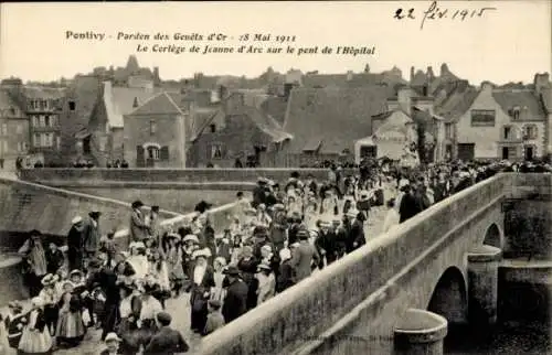
[[[433,289],[427,311],[444,316],[449,324],[467,322],[467,286],[463,272],[452,266],[443,272]]]

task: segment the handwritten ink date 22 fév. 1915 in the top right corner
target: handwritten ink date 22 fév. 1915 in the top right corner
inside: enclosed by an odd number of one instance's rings
[[[423,12],[423,15],[416,17],[416,9],[411,8],[407,10],[404,9],[397,9],[395,11],[395,14],[393,15],[393,19],[396,20],[403,20],[403,19],[410,19],[410,20],[415,20],[416,18],[422,19],[420,23],[420,29],[423,30],[425,22],[427,20],[442,20],[442,19],[449,19],[449,20],[459,20],[459,21],[465,21],[466,19],[473,19],[473,18],[482,18],[485,14],[487,14],[489,11],[497,10],[497,8],[478,8],[478,9],[460,9],[460,10],[450,10],[450,9],[445,9],[445,8],[439,8],[437,7],[437,1],[433,1],[429,8]]]

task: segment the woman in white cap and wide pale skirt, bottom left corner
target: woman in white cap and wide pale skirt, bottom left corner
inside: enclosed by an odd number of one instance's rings
[[[38,297],[31,300],[32,309],[29,313],[29,323],[23,327],[19,342],[19,355],[52,354],[52,335],[46,329],[42,300]]]

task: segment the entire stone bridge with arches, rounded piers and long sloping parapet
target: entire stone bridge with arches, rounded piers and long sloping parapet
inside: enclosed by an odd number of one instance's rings
[[[505,236],[505,212],[535,196],[550,204],[551,182],[499,174],[471,186],[216,331],[202,353],[442,353],[449,325],[496,322],[499,263],[519,239]],[[533,248],[549,256],[544,208]]]

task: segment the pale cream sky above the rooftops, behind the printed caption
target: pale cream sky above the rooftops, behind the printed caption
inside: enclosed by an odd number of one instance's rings
[[[136,54],[140,66],[158,66],[162,79],[205,75],[258,76],[272,66],[319,73],[371,72],[396,65],[403,77],[410,68],[440,64],[473,84],[490,80],[532,82],[535,73],[551,72],[552,41],[550,0],[439,1],[447,10],[443,19],[426,19],[432,1],[367,2],[147,2],[147,3],[1,3],[0,78],[54,80],[86,74],[97,66],[124,66]],[[469,14],[481,8],[481,17]],[[415,19],[394,19],[397,8],[414,8]],[[460,21],[458,11],[468,10]],[[429,12],[432,13],[432,12]],[[427,14],[429,17],[429,14]],[[454,19],[453,19],[454,17]],[[98,39],[67,39],[73,33],[104,34]],[[117,40],[125,34],[149,34],[148,40]],[[169,40],[156,40],[166,33]],[[203,35],[202,41],[174,40],[174,34]],[[208,41],[209,34],[224,34],[226,41]],[[248,40],[245,40],[245,34]],[[270,41],[251,41],[269,34]],[[277,43],[276,36],[283,36]],[[242,40],[242,41],[240,41]],[[168,45],[183,53],[152,52]],[[137,47],[148,52],[137,53]],[[190,46],[200,53],[190,53]],[[232,47],[234,53],[202,54],[205,45]],[[265,53],[236,53],[241,45],[261,47]],[[294,47],[293,54],[266,53],[268,49]],[[322,54],[325,46],[332,53]],[[337,54],[338,46],[374,49],[373,54]],[[308,54],[308,49],[317,49]],[[298,55],[301,52],[301,55]],[[368,51],[370,52],[370,51]]]

